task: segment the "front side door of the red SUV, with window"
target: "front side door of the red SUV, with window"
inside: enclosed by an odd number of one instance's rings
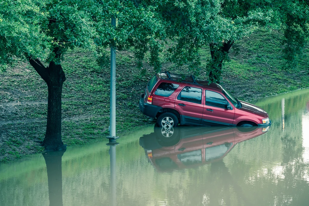
[[[230,105],[231,109],[227,109]],[[205,89],[205,105],[202,124],[204,125],[232,125],[235,108],[222,94]]]

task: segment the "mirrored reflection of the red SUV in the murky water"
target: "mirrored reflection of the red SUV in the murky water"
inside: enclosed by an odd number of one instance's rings
[[[156,168],[168,171],[218,161],[235,144],[263,135],[269,127],[155,127],[139,144]]]

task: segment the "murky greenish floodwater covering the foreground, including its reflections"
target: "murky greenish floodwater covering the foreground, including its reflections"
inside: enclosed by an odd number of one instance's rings
[[[309,205],[309,90],[253,104],[270,128],[150,126],[0,164],[0,205]]]

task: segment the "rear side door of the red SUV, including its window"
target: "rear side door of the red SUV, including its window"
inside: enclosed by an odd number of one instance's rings
[[[185,86],[175,99],[175,109],[180,112],[180,123],[201,124],[203,117],[202,88]]]

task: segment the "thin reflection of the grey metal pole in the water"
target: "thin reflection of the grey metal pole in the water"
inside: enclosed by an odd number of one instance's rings
[[[106,145],[109,145],[109,158],[110,158],[110,169],[111,169],[111,205],[116,206],[116,139],[109,139]]]

